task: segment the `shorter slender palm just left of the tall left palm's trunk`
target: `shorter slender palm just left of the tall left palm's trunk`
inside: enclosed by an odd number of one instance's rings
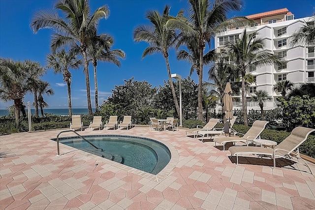
[[[47,68],[53,68],[54,73],[63,74],[63,81],[67,84],[68,92],[68,108],[69,116],[72,116],[72,105],[71,105],[71,73],[70,68],[78,69],[82,65],[82,60],[78,59],[74,51],[66,52],[64,49],[47,55],[46,58]]]

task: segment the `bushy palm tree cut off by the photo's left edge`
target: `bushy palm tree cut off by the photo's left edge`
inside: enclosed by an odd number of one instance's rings
[[[30,90],[29,72],[31,66],[26,61],[0,59],[0,99],[4,102],[13,100],[16,128],[19,129],[20,111],[23,98]]]

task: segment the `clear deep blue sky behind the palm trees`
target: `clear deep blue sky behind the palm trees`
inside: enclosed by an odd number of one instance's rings
[[[38,10],[53,8],[56,0],[0,0],[0,57],[13,60],[34,60],[46,65],[46,55],[50,53],[49,45],[52,30],[43,29],[34,34],[30,28],[33,14]],[[246,16],[260,12],[281,9],[286,7],[295,15],[295,19],[311,16],[315,12],[314,0],[245,0],[244,9],[240,12],[228,14],[232,16]],[[176,15],[180,9],[188,9],[188,0],[90,0],[92,11],[107,5],[110,15],[107,20],[99,22],[98,33],[109,33],[115,39],[112,49],[122,49],[126,59],[118,68],[113,64],[98,63],[97,79],[99,98],[102,104],[111,95],[115,85],[123,85],[124,80],[134,77],[137,81],[146,80],[152,86],[163,86],[168,79],[165,60],[162,55],[152,55],[141,59],[146,43],[135,43],[132,33],[135,27],[148,24],[145,13],[148,10],[162,12],[165,5],[171,6],[171,15]],[[189,63],[176,60],[175,50],[169,54],[172,73],[189,76]],[[91,101],[94,107],[94,79],[93,66],[89,66]],[[204,80],[208,79],[208,67],[204,69]],[[86,85],[83,67],[71,70],[72,108],[86,108]],[[196,73],[191,77],[197,82]],[[49,108],[67,108],[67,90],[61,74],[55,75],[53,70],[42,78],[51,84],[55,91],[54,96],[44,96]],[[26,95],[25,101],[33,101],[32,95]],[[13,104],[13,101],[4,103],[0,101],[0,109]]]

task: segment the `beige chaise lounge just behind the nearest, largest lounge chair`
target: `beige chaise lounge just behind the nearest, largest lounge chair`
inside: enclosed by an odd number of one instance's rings
[[[223,145],[223,151],[225,150],[225,144],[228,142],[233,142],[233,144],[235,145],[235,143],[237,142],[242,142],[245,143],[248,146],[248,142],[253,139],[258,138],[258,136],[260,135],[260,133],[265,129],[266,124],[269,121],[262,121],[262,120],[256,120],[252,123],[252,127],[245,133],[234,133],[234,137],[219,137],[219,138],[215,138],[213,139],[213,141],[215,142],[215,147],[218,144]],[[236,134],[241,134],[243,135],[243,137],[237,137],[235,136]]]

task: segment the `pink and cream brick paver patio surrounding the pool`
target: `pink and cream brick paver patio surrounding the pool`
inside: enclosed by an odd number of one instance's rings
[[[228,150],[186,137],[185,130],[78,131],[164,143],[172,159],[155,176],[63,144],[57,156],[50,139],[60,131],[0,136],[1,210],[315,209],[315,177],[302,165],[280,161],[283,167],[272,170],[271,160],[250,156],[236,167]]]

